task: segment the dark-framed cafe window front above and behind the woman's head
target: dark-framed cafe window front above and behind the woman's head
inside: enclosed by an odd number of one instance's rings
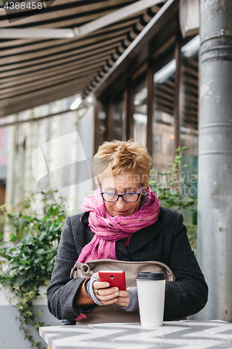
[[[186,181],[196,195],[199,29],[183,38],[178,1],[162,16],[95,89],[95,151],[104,140],[132,138],[148,148],[155,173],[165,173],[175,149],[187,147]]]

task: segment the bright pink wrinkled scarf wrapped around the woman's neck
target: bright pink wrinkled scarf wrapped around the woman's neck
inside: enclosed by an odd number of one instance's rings
[[[130,242],[134,232],[155,223],[160,212],[160,200],[157,195],[146,188],[147,201],[132,216],[112,217],[107,211],[100,195],[100,188],[94,195],[86,196],[81,209],[88,212],[88,226],[94,232],[94,237],[79,255],[77,262],[95,259],[116,260],[115,244],[117,240],[125,239],[125,246]]]

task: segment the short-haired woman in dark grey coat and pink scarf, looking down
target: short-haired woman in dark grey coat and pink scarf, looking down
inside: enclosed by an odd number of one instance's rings
[[[98,280],[98,274],[70,280],[76,261],[104,258],[155,260],[171,268],[176,282],[166,284],[164,320],[185,318],[205,306],[208,287],[191,250],[183,216],[160,207],[148,186],[150,164],[150,155],[140,143],[114,141],[99,147],[93,159],[98,189],[85,198],[84,212],[66,217],[47,289],[49,311],[56,318],[71,320],[70,324],[75,320],[88,323],[93,309],[105,306],[107,313],[111,304],[123,309],[121,321],[130,321],[127,315],[137,313],[135,287],[110,288]]]

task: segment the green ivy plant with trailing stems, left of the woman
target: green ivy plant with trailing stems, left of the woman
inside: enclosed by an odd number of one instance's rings
[[[32,197],[27,204],[31,200]],[[28,326],[32,325],[38,331],[45,324],[36,320],[41,314],[33,311],[32,301],[42,297],[40,286],[49,285],[65,219],[63,204],[49,203],[46,198],[43,201],[45,215],[42,218],[38,218],[35,212],[31,216],[24,215],[24,211],[29,209],[25,203],[21,204],[20,211],[11,213],[6,205],[1,207],[11,232],[10,242],[0,246],[0,255],[5,258],[0,267],[1,284],[13,292],[13,299],[9,301],[16,301],[20,329],[31,346],[37,348],[41,348],[41,343],[36,343]]]

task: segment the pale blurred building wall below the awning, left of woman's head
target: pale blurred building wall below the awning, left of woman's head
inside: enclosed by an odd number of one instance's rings
[[[91,174],[82,175],[86,171],[83,164],[93,157],[93,106],[70,110],[74,99],[64,98],[8,117],[8,124],[15,121],[7,128],[5,202],[11,207],[33,193],[37,200],[32,209],[43,214],[41,191],[57,191],[56,200],[63,200],[70,214],[93,191]]]

